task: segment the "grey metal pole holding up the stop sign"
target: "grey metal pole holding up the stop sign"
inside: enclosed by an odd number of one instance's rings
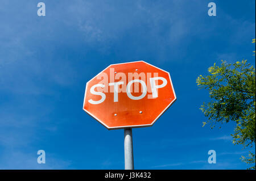
[[[133,132],[125,129],[125,170],[133,170]]]

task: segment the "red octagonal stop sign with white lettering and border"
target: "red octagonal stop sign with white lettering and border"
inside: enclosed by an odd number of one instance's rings
[[[83,109],[108,129],[148,127],[176,100],[170,74],[144,61],[113,64],[86,83]]]

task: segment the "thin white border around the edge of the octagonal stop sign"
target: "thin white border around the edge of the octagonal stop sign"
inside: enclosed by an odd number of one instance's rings
[[[144,62],[144,63],[148,64],[147,62],[145,62],[145,61],[143,61],[143,60],[141,60],[141,61],[133,61],[133,62],[126,62],[126,63],[120,63],[120,64],[130,64],[130,63],[135,63],[135,62]],[[112,66],[112,65],[120,65],[120,64],[111,64],[111,65],[109,65],[107,68],[105,68],[104,70],[108,69],[108,68],[109,68],[110,66]],[[159,69],[159,70],[162,70],[162,71],[168,73],[169,78],[170,78],[170,82],[171,82],[171,86],[172,86],[172,90],[174,91],[174,86],[172,85],[172,79],[171,79],[170,73],[169,73],[168,71],[163,70],[163,69],[160,69],[160,68],[158,68],[158,67],[156,67],[156,66],[154,66],[154,65],[151,65],[151,64],[148,64],[148,65],[153,66],[153,67],[156,68],[156,69]],[[102,71],[104,71],[104,70],[102,70]],[[100,73],[98,73],[95,77],[97,77],[99,74],[101,74],[102,71],[101,71]],[[93,77],[92,79],[94,79],[95,77]],[[92,81],[92,79],[90,79],[90,81]],[[156,121],[156,120],[171,106],[171,104],[174,103],[175,100],[177,99],[177,98],[176,98],[175,91],[174,91],[174,100],[172,100],[172,102],[158,115],[158,117],[156,117],[156,119],[155,119],[154,121],[152,121],[151,124],[130,125],[130,126],[121,126],[121,127],[108,127],[108,126],[107,126],[106,124],[104,124],[101,120],[99,120],[96,116],[94,116],[92,113],[90,113],[89,111],[87,111],[87,110],[84,109],[87,85],[88,85],[88,83],[89,83],[90,81],[88,81],[88,82],[86,83],[85,94],[84,94],[84,104],[83,104],[83,106],[82,106],[82,109],[83,109],[85,112],[87,112],[90,116],[92,116],[94,119],[96,119],[98,122],[100,122],[102,125],[104,125],[104,127],[108,128],[109,130],[112,130],[112,129],[122,129],[122,128],[143,128],[143,127],[151,127],[151,126],[155,123],[155,121]]]

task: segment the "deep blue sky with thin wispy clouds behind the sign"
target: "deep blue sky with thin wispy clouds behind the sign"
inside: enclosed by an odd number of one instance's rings
[[[123,130],[108,131],[82,104],[87,81],[137,60],[169,71],[177,100],[133,129],[135,169],[248,167],[234,124],[202,127],[209,94],[196,78],[221,60],[255,66],[255,1],[44,0],[41,17],[38,2],[0,0],[0,169],[123,169]]]

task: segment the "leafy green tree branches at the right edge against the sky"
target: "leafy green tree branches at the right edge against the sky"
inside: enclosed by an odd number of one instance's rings
[[[196,79],[197,86],[207,89],[212,99],[200,107],[208,118],[203,127],[209,124],[213,128],[218,123],[234,121],[233,144],[252,147],[255,145],[255,69],[247,60],[234,64],[222,61],[220,66],[214,63],[208,72],[209,75]],[[254,153],[250,152],[247,158],[242,156],[242,161],[254,163],[250,169],[255,169]]]

